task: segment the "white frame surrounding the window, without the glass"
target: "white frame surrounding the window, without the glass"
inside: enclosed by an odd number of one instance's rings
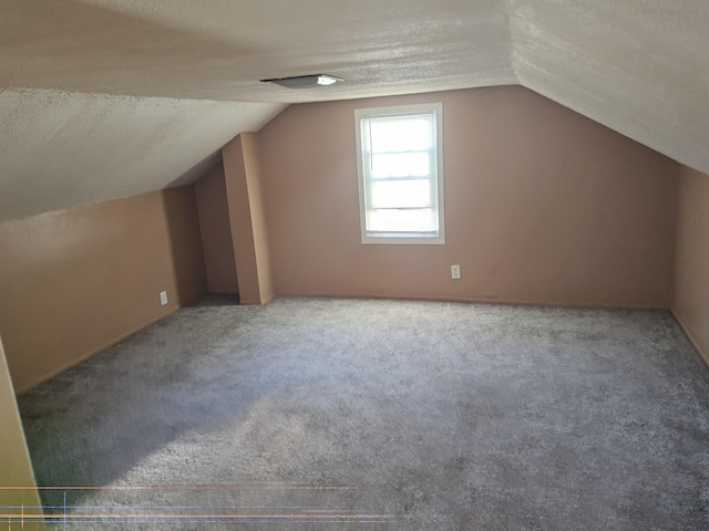
[[[422,235],[421,232],[374,232],[367,230],[367,192],[364,173],[362,166],[362,118],[403,116],[431,113],[434,114],[435,142],[436,142],[436,176],[435,176],[435,205],[438,218],[438,232]],[[362,243],[383,244],[444,244],[445,243],[445,212],[443,195],[443,104],[424,103],[418,105],[398,105],[393,107],[372,107],[354,110],[354,129],[357,138],[357,174],[359,186],[359,215]]]

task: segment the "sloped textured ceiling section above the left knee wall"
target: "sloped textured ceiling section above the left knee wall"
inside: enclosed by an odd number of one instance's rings
[[[18,218],[189,183],[274,104],[0,92],[0,212]],[[216,158],[215,158],[216,157]]]

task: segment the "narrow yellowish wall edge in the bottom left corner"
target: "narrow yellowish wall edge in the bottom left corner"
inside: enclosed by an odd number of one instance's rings
[[[37,492],[32,462],[24,440],[24,430],[14,399],[10,371],[0,339],[0,507],[3,527],[8,529],[45,529],[43,521],[33,517],[42,514]],[[19,489],[12,489],[13,487]],[[25,514],[29,518],[22,519]],[[17,517],[17,518],[14,518]]]

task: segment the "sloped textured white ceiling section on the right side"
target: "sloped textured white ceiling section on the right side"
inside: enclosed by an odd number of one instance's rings
[[[709,1],[510,6],[520,84],[709,173]]]

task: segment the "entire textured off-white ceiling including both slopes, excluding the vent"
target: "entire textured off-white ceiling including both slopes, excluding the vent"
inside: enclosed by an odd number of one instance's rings
[[[0,2],[0,219],[194,180],[289,103],[522,84],[709,173],[706,0]],[[330,73],[328,90],[260,79]]]

